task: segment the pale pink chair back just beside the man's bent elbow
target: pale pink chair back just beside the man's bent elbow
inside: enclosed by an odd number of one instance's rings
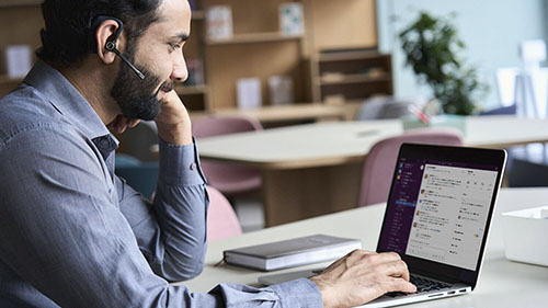
[[[207,241],[232,238],[242,233],[240,223],[228,199],[216,189],[207,186]]]

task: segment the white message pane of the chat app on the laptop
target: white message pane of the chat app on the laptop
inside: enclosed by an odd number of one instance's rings
[[[425,164],[406,254],[475,271],[496,175]]]

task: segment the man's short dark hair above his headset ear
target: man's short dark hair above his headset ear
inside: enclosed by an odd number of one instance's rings
[[[99,15],[122,20],[127,41],[132,43],[158,21],[161,2],[162,0],[45,0],[42,14],[46,26],[41,31],[42,47],[36,55],[64,67],[82,60],[92,47],[92,24]]]

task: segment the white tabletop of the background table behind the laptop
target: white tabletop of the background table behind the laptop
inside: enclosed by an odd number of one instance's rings
[[[506,148],[548,141],[548,121],[468,118],[466,146]],[[399,119],[317,123],[199,140],[202,158],[264,169],[336,166],[363,160],[377,141],[402,133]]]

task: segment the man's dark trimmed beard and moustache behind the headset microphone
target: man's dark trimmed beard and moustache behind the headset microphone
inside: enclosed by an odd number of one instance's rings
[[[135,65],[134,46],[128,46],[124,56]],[[121,61],[119,72],[114,81],[111,95],[122,110],[123,116],[151,121],[160,113],[161,102],[158,100],[158,92],[160,90],[170,92],[173,90],[174,84],[171,81],[162,83],[161,79],[151,71],[142,67],[136,67],[146,76],[144,80],[128,65]],[[160,89],[156,90],[160,83]]]

